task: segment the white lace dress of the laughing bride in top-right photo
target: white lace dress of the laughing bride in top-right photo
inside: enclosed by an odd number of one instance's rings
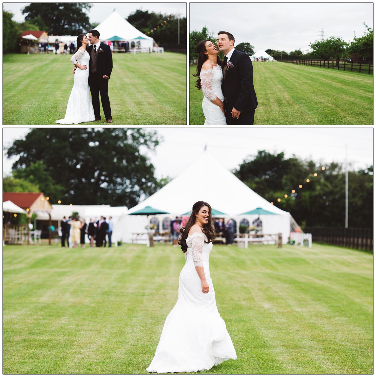
[[[219,98],[224,101],[222,93],[223,72],[221,66],[217,64],[211,69],[201,69],[200,72],[201,88],[203,90],[203,112],[205,116],[205,124],[222,125],[226,123],[226,117],[219,106],[210,101]]]

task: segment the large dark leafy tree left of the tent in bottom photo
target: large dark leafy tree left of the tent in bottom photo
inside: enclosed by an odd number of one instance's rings
[[[62,204],[131,208],[141,195],[147,197],[158,188],[154,167],[140,151],[153,150],[158,143],[156,132],[141,128],[34,128],[25,140],[15,140],[7,155],[19,156],[13,170],[37,172],[39,179],[47,173],[51,185],[62,186],[62,198],[49,195]]]

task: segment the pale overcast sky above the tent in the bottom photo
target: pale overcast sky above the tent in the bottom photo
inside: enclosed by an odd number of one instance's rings
[[[152,130],[152,129],[150,129]],[[296,154],[315,162],[344,162],[345,146],[348,160],[355,169],[373,165],[373,129],[370,128],[158,128],[162,142],[155,152],[146,152],[155,166],[155,175],[174,178],[198,158],[207,144],[207,150],[217,156],[227,169],[234,169],[248,155],[258,150]],[[28,128],[3,128],[3,146],[23,138]],[[3,158],[3,176],[11,172],[11,160]],[[210,174],[215,172],[210,171]]]

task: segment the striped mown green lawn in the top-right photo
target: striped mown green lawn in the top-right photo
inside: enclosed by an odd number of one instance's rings
[[[373,75],[254,62],[254,124],[373,124]],[[202,90],[189,68],[189,124],[204,124]]]

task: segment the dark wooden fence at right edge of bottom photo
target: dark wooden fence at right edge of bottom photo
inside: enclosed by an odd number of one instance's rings
[[[373,253],[373,229],[340,227],[305,227],[312,241]]]

